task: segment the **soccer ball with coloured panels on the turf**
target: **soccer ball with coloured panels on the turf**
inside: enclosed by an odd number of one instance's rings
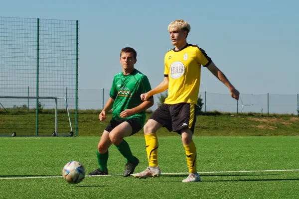
[[[85,177],[85,168],[80,162],[71,161],[63,167],[62,176],[66,182],[78,184]]]

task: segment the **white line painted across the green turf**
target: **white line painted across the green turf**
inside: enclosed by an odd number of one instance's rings
[[[251,172],[280,172],[280,171],[299,171],[299,169],[256,170],[256,171],[254,171],[254,170],[253,170],[253,171],[210,171],[210,172],[198,172],[198,174],[251,173]],[[177,175],[177,174],[189,174],[189,173],[161,173],[161,175]],[[104,176],[85,176],[85,177],[106,177],[106,176],[122,176],[122,174],[116,174],[116,175],[104,175]],[[12,177],[12,178],[0,178],[0,180],[37,179],[37,178],[62,178],[62,176]]]

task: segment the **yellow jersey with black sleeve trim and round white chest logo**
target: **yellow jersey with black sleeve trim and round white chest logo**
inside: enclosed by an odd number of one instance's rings
[[[164,57],[164,77],[169,78],[169,84],[164,103],[197,104],[201,65],[206,67],[211,62],[211,58],[197,45],[187,44],[179,51],[168,51]]]

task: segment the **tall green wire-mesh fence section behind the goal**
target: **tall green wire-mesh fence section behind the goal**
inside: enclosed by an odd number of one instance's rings
[[[56,132],[56,98],[58,135],[71,120],[78,136],[79,28],[78,20],[0,16],[0,96],[13,97],[0,99],[0,135],[17,126],[30,135]]]

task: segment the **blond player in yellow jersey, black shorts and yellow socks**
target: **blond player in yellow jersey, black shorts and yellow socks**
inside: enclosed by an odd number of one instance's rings
[[[164,80],[154,89],[142,94],[142,100],[168,89],[168,97],[151,115],[144,126],[149,167],[135,178],[156,177],[161,174],[157,161],[156,131],[166,127],[181,135],[186,152],[189,176],[182,182],[201,181],[196,169],[196,147],[192,140],[196,122],[196,104],[200,85],[201,65],[228,87],[231,97],[238,100],[239,92],[215,66],[211,58],[197,45],[187,43],[190,24],[184,20],[172,21],[168,26],[172,45],[164,57]]]

